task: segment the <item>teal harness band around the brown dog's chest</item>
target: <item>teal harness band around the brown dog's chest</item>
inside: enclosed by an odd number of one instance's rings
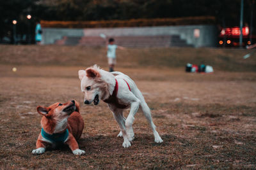
[[[66,141],[66,139],[68,138],[68,129],[66,129],[66,131],[62,132],[62,133],[48,134],[42,128],[41,134],[42,134],[43,138],[51,141],[52,143],[64,143]]]

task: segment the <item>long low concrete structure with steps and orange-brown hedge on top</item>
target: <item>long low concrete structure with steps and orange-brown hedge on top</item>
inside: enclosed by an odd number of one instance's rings
[[[127,47],[216,46],[214,18],[122,22],[42,22],[42,44],[105,46],[107,38]],[[202,24],[200,24],[202,23]],[[72,27],[72,28],[68,28]],[[84,27],[84,28],[83,28]]]

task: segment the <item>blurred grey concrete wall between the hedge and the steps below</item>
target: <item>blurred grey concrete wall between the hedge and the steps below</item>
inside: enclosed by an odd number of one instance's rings
[[[195,38],[195,29],[200,36]],[[93,29],[57,29],[43,28],[42,44],[53,44],[56,40],[69,37],[97,36],[103,33],[108,37],[115,36],[180,36],[188,45],[195,47],[216,46],[217,34],[215,25],[179,25],[159,27],[124,27],[124,28],[93,28]]]

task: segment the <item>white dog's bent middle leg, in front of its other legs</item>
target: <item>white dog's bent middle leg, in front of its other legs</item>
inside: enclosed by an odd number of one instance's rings
[[[130,110],[130,113],[125,121],[125,128],[127,131],[129,141],[132,141],[132,139],[134,139],[134,132],[132,130],[132,124],[134,121],[134,115],[137,113],[139,106],[140,106],[139,100],[136,100],[135,102],[131,103],[131,110]]]

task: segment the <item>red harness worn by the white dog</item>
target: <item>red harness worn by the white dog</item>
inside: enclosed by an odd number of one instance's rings
[[[124,79],[124,78],[123,78]],[[115,79],[116,80],[116,79]],[[125,80],[124,80],[125,81]],[[127,83],[127,81],[125,81]],[[131,88],[129,86],[129,84],[127,83],[128,87],[129,87],[129,90],[131,91]],[[118,92],[118,82],[116,80],[116,85],[115,85],[115,89],[112,93],[111,96],[108,97],[108,99],[104,100],[104,102],[108,103],[108,104],[113,104],[116,106],[116,108],[120,108],[120,109],[124,109],[124,108],[127,108],[127,104],[121,104],[118,102],[118,99],[116,97],[117,95],[117,92]]]

